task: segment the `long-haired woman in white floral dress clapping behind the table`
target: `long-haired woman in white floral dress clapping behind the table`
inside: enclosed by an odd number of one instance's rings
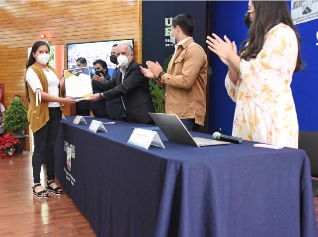
[[[249,39],[237,47],[224,36],[207,37],[209,49],[229,67],[225,85],[236,102],[232,135],[244,140],[298,148],[298,121],[290,84],[304,71],[301,39],[286,1],[249,1]],[[250,27],[249,27],[250,26]],[[246,44],[245,44],[246,43]],[[241,46],[242,46],[241,45]]]

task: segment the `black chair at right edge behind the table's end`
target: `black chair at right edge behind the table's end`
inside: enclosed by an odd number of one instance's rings
[[[299,131],[298,148],[310,159],[312,177],[318,178],[318,131]],[[314,197],[318,197],[318,180],[312,179]]]

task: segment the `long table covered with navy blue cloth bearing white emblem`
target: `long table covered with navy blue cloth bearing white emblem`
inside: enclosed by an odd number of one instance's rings
[[[247,141],[197,148],[159,130],[165,149],[145,150],[127,141],[133,127],[147,125],[116,121],[104,125],[108,133],[93,133],[92,117],[84,117],[87,125],[74,118],[61,122],[55,173],[97,236],[317,236],[303,150]]]

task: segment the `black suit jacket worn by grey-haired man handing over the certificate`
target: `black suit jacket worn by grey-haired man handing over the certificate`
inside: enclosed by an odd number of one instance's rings
[[[116,74],[115,80],[101,83],[92,81],[93,89],[104,91],[106,101],[122,96],[127,109],[128,119],[135,123],[146,124],[153,121],[148,112],[155,112],[152,96],[149,90],[149,80],[146,78],[134,60],[126,68],[123,83],[122,73]]]

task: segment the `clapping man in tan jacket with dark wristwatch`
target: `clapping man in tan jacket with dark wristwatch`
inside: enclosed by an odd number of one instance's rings
[[[170,41],[175,51],[164,73],[158,62],[141,68],[148,78],[165,86],[165,113],[176,114],[189,131],[204,125],[208,60],[203,48],[193,41],[194,20],[189,14],[172,19]]]

